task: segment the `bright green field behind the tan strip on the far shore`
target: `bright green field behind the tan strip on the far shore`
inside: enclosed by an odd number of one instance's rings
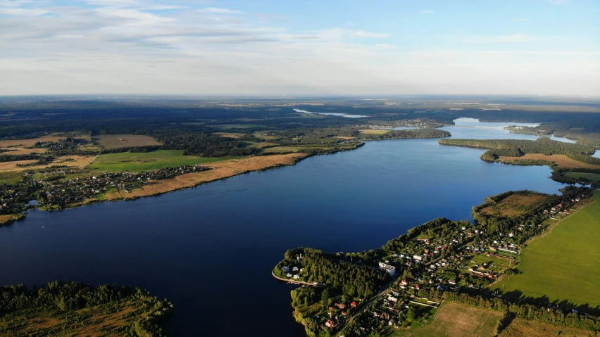
[[[159,170],[165,167],[177,167],[182,165],[196,165],[214,163],[233,157],[201,158],[192,155],[183,155],[182,150],[159,150],[144,153],[107,153],[99,155],[89,165],[89,170],[108,172],[142,172]]]

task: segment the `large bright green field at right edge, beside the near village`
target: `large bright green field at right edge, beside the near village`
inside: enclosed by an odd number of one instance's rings
[[[551,302],[568,300],[583,312],[589,311],[586,305],[600,312],[600,192],[593,198],[549,234],[531,241],[520,257],[522,274],[505,276],[494,288],[513,298],[523,293]]]

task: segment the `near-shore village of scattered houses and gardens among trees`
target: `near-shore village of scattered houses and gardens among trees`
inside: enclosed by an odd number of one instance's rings
[[[550,199],[560,200],[552,207],[539,214],[536,208],[523,221],[501,231],[491,231],[477,222],[435,220],[411,229],[412,239],[401,240],[401,236],[389,241],[375,250],[373,258],[356,253],[327,255],[338,258],[342,266],[354,263],[377,268],[387,274],[388,282],[370,298],[349,296],[344,291],[332,298],[323,297],[310,319],[317,329],[333,336],[366,336],[423,326],[435,317],[444,292],[485,293],[502,275],[514,272],[521,245],[568,215],[588,196],[580,190],[564,193],[560,199]],[[287,260],[289,265],[275,267],[274,272],[283,279],[311,284],[314,275],[306,269],[312,266],[304,262],[299,254]],[[323,283],[319,286],[335,286],[337,282]]]

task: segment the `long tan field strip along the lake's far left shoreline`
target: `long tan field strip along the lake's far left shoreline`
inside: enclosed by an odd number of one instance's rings
[[[175,191],[177,189],[185,189],[205,182],[212,182],[213,180],[232,177],[244,172],[263,170],[278,165],[293,165],[296,163],[296,160],[305,156],[306,154],[304,153],[289,153],[287,155],[263,155],[239,160],[224,160],[222,162],[209,164],[208,166],[213,170],[182,174],[173,179],[154,181],[151,182],[151,184],[144,186],[143,189],[132,191],[131,193],[120,191],[106,193],[104,196],[107,200],[115,200],[123,197],[134,198],[152,196]]]

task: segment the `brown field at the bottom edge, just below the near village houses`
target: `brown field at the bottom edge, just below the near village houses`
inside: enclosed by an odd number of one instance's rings
[[[456,303],[445,303],[439,308],[431,324],[421,329],[399,330],[393,336],[494,336],[501,315],[501,312]]]

